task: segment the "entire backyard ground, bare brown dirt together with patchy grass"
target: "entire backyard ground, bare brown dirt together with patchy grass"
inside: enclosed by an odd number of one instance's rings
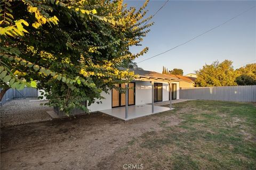
[[[255,103],[173,107],[127,122],[97,113],[6,126],[1,169],[255,169]]]

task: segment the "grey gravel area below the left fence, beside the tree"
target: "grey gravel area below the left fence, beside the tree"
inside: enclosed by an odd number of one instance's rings
[[[46,111],[51,111],[52,108],[40,106],[46,101],[29,100],[34,99],[11,100],[1,106],[1,127],[51,120]]]

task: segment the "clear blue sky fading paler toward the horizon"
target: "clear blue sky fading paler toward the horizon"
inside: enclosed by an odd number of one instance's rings
[[[144,1],[124,1],[137,9]],[[147,16],[153,15],[165,1],[150,1]],[[162,53],[244,12],[256,1],[169,1],[150,21],[155,22],[141,43],[131,47],[132,53],[149,47],[147,54],[135,59],[140,62]],[[256,63],[256,7],[205,35],[138,63],[144,70],[162,72],[163,66],[194,73],[205,64],[231,60],[234,69]],[[254,61],[253,61],[254,60]],[[252,62],[253,61],[253,62]]]

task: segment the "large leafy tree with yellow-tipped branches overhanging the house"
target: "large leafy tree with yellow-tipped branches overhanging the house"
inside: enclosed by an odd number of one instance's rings
[[[86,111],[82,101],[133,79],[118,67],[148,50],[129,51],[153,24],[143,25],[147,3],[136,10],[110,0],[1,1],[1,93],[37,84],[48,105]]]

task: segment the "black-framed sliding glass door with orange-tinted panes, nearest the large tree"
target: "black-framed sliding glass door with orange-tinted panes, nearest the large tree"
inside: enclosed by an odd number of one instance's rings
[[[117,87],[125,88],[125,84],[116,84]],[[135,83],[128,84],[128,105],[135,105]],[[112,107],[125,106],[125,94],[121,94],[118,90],[112,89]]]

